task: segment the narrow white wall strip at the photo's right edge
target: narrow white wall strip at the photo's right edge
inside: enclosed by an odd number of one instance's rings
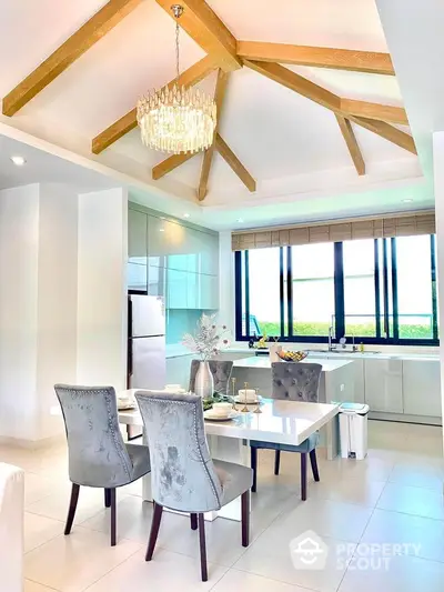
[[[436,218],[437,305],[441,331],[444,328],[444,131],[433,134]],[[440,340],[441,398],[444,418],[444,339]]]

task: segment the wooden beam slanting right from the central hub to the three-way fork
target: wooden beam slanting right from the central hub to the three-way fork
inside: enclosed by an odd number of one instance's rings
[[[331,109],[332,111],[341,111],[341,98],[337,97],[337,94],[330,92],[330,90],[315,84],[311,80],[296,74],[292,70],[289,70],[279,63],[251,60],[245,60],[244,63],[260,74],[279,82],[287,89],[302,94],[306,99],[311,99],[322,107],[326,107],[326,109]]]

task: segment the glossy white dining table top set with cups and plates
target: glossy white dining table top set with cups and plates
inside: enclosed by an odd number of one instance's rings
[[[138,389],[123,391],[118,397],[132,398],[137,391]],[[242,407],[238,405],[239,409]],[[263,399],[262,413],[253,413],[256,405],[249,405],[249,408],[251,411],[239,412],[230,421],[205,420],[206,434],[299,445],[339,412],[337,404],[274,399]],[[138,409],[119,411],[119,421],[128,425],[143,425]]]

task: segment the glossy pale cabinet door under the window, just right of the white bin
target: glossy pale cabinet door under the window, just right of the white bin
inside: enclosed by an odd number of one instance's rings
[[[365,402],[370,411],[403,413],[402,360],[364,360]]]

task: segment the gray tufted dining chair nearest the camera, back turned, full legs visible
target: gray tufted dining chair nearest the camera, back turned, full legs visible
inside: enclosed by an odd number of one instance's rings
[[[151,451],[154,513],[145,560],[151,561],[163,508],[190,514],[198,529],[202,581],[208,580],[204,512],[241,498],[242,545],[250,542],[249,466],[212,460],[206,444],[202,399],[196,394],[138,391],[135,399]]]

